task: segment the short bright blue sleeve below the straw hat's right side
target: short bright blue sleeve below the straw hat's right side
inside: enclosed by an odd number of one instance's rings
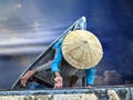
[[[85,77],[86,77],[86,86],[93,84],[95,78],[95,68],[86,69]]]

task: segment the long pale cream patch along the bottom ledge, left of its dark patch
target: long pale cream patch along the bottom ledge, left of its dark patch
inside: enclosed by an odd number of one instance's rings
[[[88,94],[38,94],[38,96],[8,96],[0,100],[99,100],[94,93]]]

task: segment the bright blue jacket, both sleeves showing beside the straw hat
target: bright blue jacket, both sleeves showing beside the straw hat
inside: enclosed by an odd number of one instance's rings
[[[55,49],[55,56],[53,59],[53,62],[51,64],[51,73],[53,74],[54,71],[60,72],[60,64],[63,59],[62,56],[62,40],[60,39],[54,46],[53,49]],[[93,84],[94,83],[94,77],[95,77],[95,68],[86,69],[85,71],[85,78],[86,78],[86,84]]]

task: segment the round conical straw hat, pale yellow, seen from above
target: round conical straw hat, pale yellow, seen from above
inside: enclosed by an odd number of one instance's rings
[[[65,36],[62,53],[69,64],[78,69],[89,69],[96,66],[103,50],[99,39],[85,30],[74,30]]]

